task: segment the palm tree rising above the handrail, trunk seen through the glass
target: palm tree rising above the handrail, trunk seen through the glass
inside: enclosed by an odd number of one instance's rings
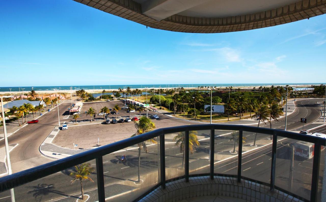
[[[131,137],[141,135],[143,133],[147,133],[149,131],[152,131],[156,128],[155,123],[153,123],[149,118],[143,116],[135,123],[135,128],[137,129],[137,133],[132,135]],[[157,143],[154,139],[146,140],[147,142],[152,142],[154,144]],[[144,151],[147,153],[147,147],[146,142],[138,143],[138,182],[141,180],[140,176],[140,168],[141,168],[141,148],[144,149]]]

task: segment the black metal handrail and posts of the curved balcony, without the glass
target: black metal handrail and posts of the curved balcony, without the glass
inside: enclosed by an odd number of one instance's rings
[[[274,180],[275,180],[275,165],[276,165],[276,144],[277,137],[286,137],[295,140],[301,140],[305,142],[315,143],[314,148],[314,159],[313,159],[313,173],[312,173],[312,189],[311,189],[311,199],[310,201],[316,201],[317,199],[317,186],[318,186],[318,175],[319,175],[319,161],[320,161],[320,147],[326,146],[326,139],[321,137],[315,137],[310,135],[303,135],[294,132],[278,130],[278,129],[269,129],[269,128],[259,128],[254,126],[246,125],[232,125],[232,124],[198,124],[198,125],[184,125],[184,126],[175,126],[168,128],[160,128],[154,131],[144,133],[135,137],[127,138],[118,142],[114,142],[96,149],[89,151],[84,151],[79,154],[75,154],[60,160],[56,160],[41,166],[36,166],[12,175],[8,175],[0,178],[0,192],[15,188],[17,186],[23,185],[25,183],[49,176],[56,172],[65,170],[67,168],[73,167],[78,164],[96,159],[96,170],[97,179],[98,179],[98,196],[99,201],[104,201],[104,179],[103,179],[103,163],[102,157],[109,153],[122,150],[126,147],[136,145],[143,141],[146,141],[151,138],[160,137],[160,161],[161,169],[165,168],[165,158],[164,158],[164,135],[169,133],[178,133],[185,132],[185,139],[189,138],[189,131],[197,130],[211,130],[211,151],[214,151],[214,131],[215,130],[236,130],[240,131],[239,134],[239,151],[242,148],[242,132],[253,132],[253,133],[262,133],[273,135],[273,147],[272,147],[272,165],[271,165],[271,190],[274,189]],[[189,141],[185,141],[185,149],[188,148]],[[242,150],[241,150],[242,151]],[[238,152],[238,181],[241,180],[241,155],[242,152]],[[162,158],[163,157],[163,158]],[[185,150],[185,179],[189,179],[189,151]],[[210,152],[210,176],[213,178],[214,174],[214,152]],[[164,166],[164,167],[163,167]],[[213,169],[212,169],[213,166]],[[165,187],[165,172],[161,172],[161,185]]]

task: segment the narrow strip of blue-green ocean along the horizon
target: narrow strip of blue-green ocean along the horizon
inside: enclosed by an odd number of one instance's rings
[[[222,84],[143,84],[143,85],[135,85],[135,84],[130,84],[130,85],[80,85],[80,86],[22,86],[22,87],[0,87],[0,92],[9,92],[10,90],[12,92],[16,91],[31,91],[32,89],[35,91],[48,91],[48,90],[53,90],[53,89],[60,89],[60,90],[70,90],[70,87],[72,87],[73,90],[79,90],[79,89],[84,89],[84,90],[110,90],[110,89],[118,89],[118,88],[126,88],[130,87],[132,89],[136,88],[177,88],[177,87],[184,87],[184,88],[196,88],[198,86],[216,86],[216,87],[227,87],[227,86],[232,86],[232,87],[239,87],[239,86],[295,86],[295,85],[320,85],[321,83],[222,83]],[[19,89],[20,88],[20,89]]]

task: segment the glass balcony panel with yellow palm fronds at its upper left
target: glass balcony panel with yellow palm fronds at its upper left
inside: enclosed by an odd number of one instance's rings
[[[210,130],[189,131],[189,174],[209,173]]]

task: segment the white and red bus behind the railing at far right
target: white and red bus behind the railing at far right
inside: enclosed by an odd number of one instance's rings
[[[311,136],[326,138],[326,135],[322,133],[314,133]],[[314,157],[314,147],[314,143],[298,141],[294,144],[294,154],[307,159],[311,159],[312,157]],[[325,147],[321,146],[321,150],[324,149]]]

